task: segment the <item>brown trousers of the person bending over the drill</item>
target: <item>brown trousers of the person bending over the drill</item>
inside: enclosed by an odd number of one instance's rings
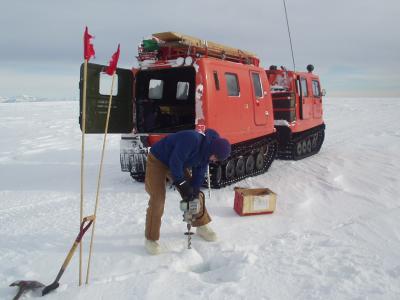
[[[146,214],[146,239],[157,241],[160,239],[161,217],[164,213],[166,179],[170,177],[170,171],[166,165],[155,158],[151,153],[147,156],[146,163],[146,192],[150,195],[149,206]],[[202,226],[211,222],[207,209],[204,205],[204,194],[200,193],[202,210],[198,218],[193,222],[193,226]],[[176,207],[179,205],[177,203]]]

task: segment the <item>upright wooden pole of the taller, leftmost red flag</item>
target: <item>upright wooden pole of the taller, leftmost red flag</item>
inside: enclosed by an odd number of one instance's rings
[[[82,95],[82,149],[81,149],[81,203],[79,224],[83,221],[83,194],[84,194],[84,162],[85,162],[85,132],[86,132],[86,88],[87,88],[87,64],[85,59],[83,64],[83,95]],[[79,243],[79,286],[82,285],[82,243]]]

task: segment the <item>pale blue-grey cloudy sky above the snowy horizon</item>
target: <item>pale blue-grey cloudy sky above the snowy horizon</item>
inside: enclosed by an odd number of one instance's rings
[[[328,96],[400,96],[399,1],[286,3],[297,70],[314,64]],[[99,64],[121,43],[130,68],[143,37],[177,31],[292,68],[282,0],[13,0],[2,4],[0,96],[77,99],[86,25]]]

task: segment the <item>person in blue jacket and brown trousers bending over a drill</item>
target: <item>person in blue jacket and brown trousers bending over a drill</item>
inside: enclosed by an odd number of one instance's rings
[[[206,241],[215,241],[217,235],[207,224],[211,218],[200,193],[209,162],[229,157],[231,145],[213,129],[204,134],[184,130],[170,134],[155,143],[147,156],[145,188],[150,195],[145,228],[145,248],[150,254],[159,254],[161,217],[164,212],[166,179],[170,178],[185,201],[200,199],[201,212],[193,222],[196,233]],[[191,169],[190,177],[188,170]]]

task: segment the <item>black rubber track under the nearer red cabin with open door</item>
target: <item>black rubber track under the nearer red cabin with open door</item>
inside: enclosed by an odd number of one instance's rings
[[[222,179],[221,181],[217,184],[215,180],[213,180],[216,176],[216,172],[218,170],[218,167],[221,166],[222,169],[227,164],[227,161],[224,161],[222,163],[217,163],[217,164],[210,164],[210,173],[211,173],[211,187],[212,188],[222,188],[227,185],[230,185],[232,183],[238,182],[240,180],[243,180],[248,177],[260,175],[262,173],[265,173],[268,168],[271,166],[273,160],[275,159],[277,152],[278,152],[278,142],[275,138],[275,136],[266,136],[262,138],[258,138],[252,141],[246,141],[242,142],[236,145],[232,145],[232,153],[230,156],[230,159],[234,159],[235,162],[240,158],[240,157],[247,157],[249,154],[256,154],[259,152],[264,146],[268,146],[268,152],[265,155],[264,158],[264,166],[261,170],[256,170],[254,168],[254,171],[249,174],[245,174],[240,177],[234,177],[233,179],[226,180],[224,171],[222,171]]]

